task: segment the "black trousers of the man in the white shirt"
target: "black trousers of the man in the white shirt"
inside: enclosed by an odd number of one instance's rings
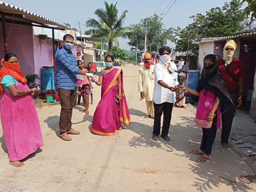
[[[173,103],[164,102],[161,104],[154,103],[154,125],[153,134],[159,135],[161,128],[161,116],[164,113],[164,121],[162,135],[167,136],[171,124],[171,113],[173,111]]]

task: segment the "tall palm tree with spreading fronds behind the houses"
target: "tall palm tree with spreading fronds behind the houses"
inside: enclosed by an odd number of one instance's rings
[[[95,11],[95,15],[98,17],[99,21],[93,18],[89,18],[86,21],[86,26],[93,29],[85,31],[85,34],[91,35],[92,37],[109,39],[110,50],[113,43],[119,47],[117,38],[131,38],[132,27],[123,26],[128,10],[124,10],[118,18],[117,3],[111,3],[109,5],[104,1],[104,4],[105,10],[103,8],[99,8]]]

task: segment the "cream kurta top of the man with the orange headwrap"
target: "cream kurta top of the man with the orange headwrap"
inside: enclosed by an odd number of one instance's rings
[[[150,68],[146,68],[143,66],[139,70],[139,92],[144,92],[145,100],[152,101],[153,100],[153,92],[154,92],[154,65],[150,65]],[[142,100],[142,97],[141,97]]]

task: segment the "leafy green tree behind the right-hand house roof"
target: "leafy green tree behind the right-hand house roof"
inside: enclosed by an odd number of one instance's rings
[[[203,14],[196,14],[189,18],[193,22],[184,29],[174,30],[176,51],[186,52],[189,41],[189,54],[197,55],[201,38],[230,36],[245,28],[245,14],[240,0],[231,0],[223,7],[211,8]],[[189,40],[188,40],[189,39]]]

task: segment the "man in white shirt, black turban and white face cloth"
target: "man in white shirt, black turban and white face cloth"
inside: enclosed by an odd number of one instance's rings
[[[159,49],[160,61],[154,67],[155,87],[153,92],[154,101],[154,126],[152,139],[158,141],[161,128],[161,116],[164,114],[161,137],[165,141],[170,141],[168,137],[171,123],[171,113],[173,104],[176,102],[178,89],[178,74],[175,63],[170,62],[171,49],[168,46]]]

